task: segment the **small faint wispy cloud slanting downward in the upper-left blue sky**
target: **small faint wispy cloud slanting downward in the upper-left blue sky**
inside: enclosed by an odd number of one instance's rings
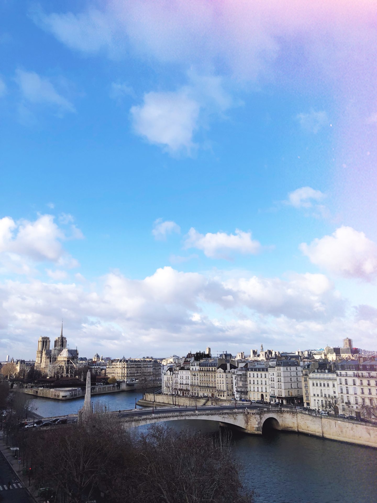
[[[75,112],[72,103],[56,91],[47,77],[41,77],[35,71],[18,68],[15,80],[23,99],[27,102],[52,106],[59,114]]]

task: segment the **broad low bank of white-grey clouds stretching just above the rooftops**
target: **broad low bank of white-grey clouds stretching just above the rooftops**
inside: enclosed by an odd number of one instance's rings
[[[17,348],[22,341],[31,356],[35,334],[55,337],[51,327],[58,333],[62,316],[68,343],[81,355],[106,341],[114,357],[124,347],[132,356],[183,354],[210,341],[245,351],[260,343],[261,334],[268,347],[297,349],[336,344],[339,333],[354,330],[361,346],[375,334],[375,325],[360,322],[356,328],[344,321],[344,299],[321,274],[287,281],[220,276],[164,267],[141,280],[112,273],[93,284],[0,282],[0,346],[12,340],[9,346]]]

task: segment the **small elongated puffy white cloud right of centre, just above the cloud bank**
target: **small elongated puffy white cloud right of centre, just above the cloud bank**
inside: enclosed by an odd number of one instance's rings
[[[251,232],[236,229],[235,234],[226,232],[201,234],[194,227],[185,236],[184,247],[201,249],[206,257],[211,259],[229,259],[234,253],[255,255],[262,249],[259,241],[251,239]]]

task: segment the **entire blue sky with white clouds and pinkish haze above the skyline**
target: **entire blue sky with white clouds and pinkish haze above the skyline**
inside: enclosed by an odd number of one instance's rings
[[[0,359],[377,350],[377,3],[0,6]]]

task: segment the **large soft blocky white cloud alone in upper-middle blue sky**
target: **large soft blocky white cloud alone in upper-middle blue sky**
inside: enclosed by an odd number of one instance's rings
[[[184,88],[175,93],[147,93],[142,105],[131,108],[133,128],[170,153],[190,154],[199,110],[199,103]]]

